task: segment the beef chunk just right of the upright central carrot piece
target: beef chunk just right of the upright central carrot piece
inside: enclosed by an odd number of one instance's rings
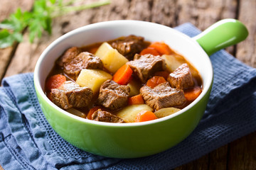
[[[150,54],[135,55],[134,60],[127,62],[127,64],[129,64],[129,67],[132,68],[132,71],[139,77],[142,83],[145,83],[155,72],[165,68],[164,59]]]

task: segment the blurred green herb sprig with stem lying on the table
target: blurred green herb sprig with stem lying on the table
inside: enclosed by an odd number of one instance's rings
[[[9,47],[14,42],[21,42],[25,28],[28,28],[29,41],[33,42],[35,38],[41,38],[44,30],[51,34],[52,19],[55,17],[63,16],[71,11],[81,11],[110,4],[110,0],[104,0],[82,6],[72,6],[75,1],[36,0],[32,11],[22,12],[21,8],[18,8],[8,19],[0,23],[0,48]]]

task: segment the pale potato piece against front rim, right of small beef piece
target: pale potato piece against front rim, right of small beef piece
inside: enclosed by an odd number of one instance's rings
[[[136,115],[141,111],[153,111],[153,108],[146,104],[130,105],[123,108],[117,113],[119,118],[122,118],[127,123],[134,123]]]

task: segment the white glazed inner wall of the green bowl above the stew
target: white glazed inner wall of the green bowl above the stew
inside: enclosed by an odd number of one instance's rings
[[[106,21],[102,23],[95,23],[73,30],[52,42],[42,53],[41,57],[39,57],[36,64],[34,72],[35,86],[41,86],[41,88],[39,88],[39,93],[45,96],[43,94],[43,89],[45,86],[46,77],[48,76],[50,70],[53,68],[55,60],[61,54],[63,54],[63,52],[68,49],[68,47],[81,47],[83,45],[90,45],[95,42],[113,40],[115,38],[131,34],[142,36],[145,38],[145,40],[149,40],[151,42],[164,41],[172,49],[186,57],[186,60],[193,64],[196,69],[198,69],[198,72],[201,74],[203,79],[203,92],[201,96],[196,99],[196,101],[200,100],[201,97],[206,94],[206,91],[208,91],[210,88],[210,84],[213,79],[213,68],[208,55],[206,55],[206,52],[203,51],[201,46],[198,45],[195,40],[189,38],[183,33],[179,33],[177,30],[166,26],[161,26],[156,23],[149,23],[144,21]],[[46,96],[45,98],[48,100]],[[48,101],[50,102],[50,100]],[[191,106],[193,106],[194,103],[196,103],[196,101],[191,103],[191,105],[187,106],[182,111],[188,110]],[[51,103],[51,105],[53,107],[57,107],[53,103]],[[170,118],[177,115],[178,113],[167,117]],[[165,118],[154,121],[160,121],[164,119]],[[131,123],[128,124],[131,125]],[[142,125],[143,123],[140,124]]]

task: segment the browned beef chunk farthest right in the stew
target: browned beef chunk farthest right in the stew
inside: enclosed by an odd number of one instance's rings
[[[171,86],[176,89],[187,89],[193,86],[193,79],[191,70],[188,64],[181,64],[177,69],[174,70],[167,79]]]

